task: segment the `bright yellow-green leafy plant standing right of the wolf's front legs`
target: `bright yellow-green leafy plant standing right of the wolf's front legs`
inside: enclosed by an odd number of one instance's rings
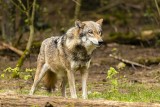
[[[110,92],[117,92],[118,91],[118,79],[116,78],[116,75],[118,72],[113,68],[110,67],[110,69],[107,71],[107,79],[110,81],[111,90]]]

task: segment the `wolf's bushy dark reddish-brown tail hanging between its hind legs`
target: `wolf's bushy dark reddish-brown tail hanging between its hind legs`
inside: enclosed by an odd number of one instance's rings
[[[47,71],[46,75],[44,76],[44,84],[47,88],[48,92],[54,91],[56,88],[57,83],[57,75],[52,71]]]

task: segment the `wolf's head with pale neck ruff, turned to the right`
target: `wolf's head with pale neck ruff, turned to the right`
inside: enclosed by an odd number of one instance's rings
[[[67,31],[68,34],[68,45],[74,43],[80,43],[87,49],[95,49],[97,46],[103,44],[102,40],[102,22],[100,19],[94,21],[75,21],[75,27]]]

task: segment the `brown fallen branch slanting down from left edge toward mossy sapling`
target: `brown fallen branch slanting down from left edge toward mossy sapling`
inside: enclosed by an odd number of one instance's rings
[[[13,47],[13,46],[11,46],[11,45],[9,45],[9,44],[6,44],[6,43],[4,43],[4,42],[1,42],[1,43],[2,43],[2,47],[0,48],[0,50],[2,50],[2,49],[7,49],[7,48],[8,48],[8,49],[12,50],[13,52],[15,52],[16,54],[18,54],[18,55],[20,55],[20,56],[23,54],[23,51],[15,48],[15,47]]]

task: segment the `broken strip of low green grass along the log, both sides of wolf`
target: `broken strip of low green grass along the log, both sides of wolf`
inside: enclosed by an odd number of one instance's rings
[[[137,84],[137,83],[121,83],[118,85],[117,90],[111,90],[110,85],[106,83],[103,88],[106,88],[102,92],[92,92],[88,95],[89,99],[107,99],[114,101],[126,101],[126,102],[152,102],[160,103],[160,88],[158,86],[148,85],[148,84]],[[94,87],[94,84],[88,84],[88,89]],[[90,86],[92,85],[92,86]],[[97,84],[96,84],[97,85]],[[12,90],[15,93],[28,95],[28,89]],[[9,92],[9,90],[0,90],[0,93]],[[70,95],[69,90],[68,97]],[[77,92],[79,98],[81,98],[81,91]],[[35,95],[45,95],[45,96],[61,96],[60,91],[56,91],[53,94],[48,93],[45,90],[38,89]]]

